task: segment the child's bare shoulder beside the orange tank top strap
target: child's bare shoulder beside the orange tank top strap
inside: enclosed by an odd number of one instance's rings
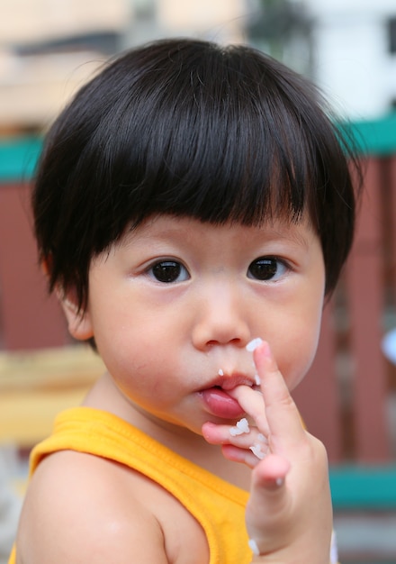
[[[164,546],[155,514],[135,495],[130,470],[74,451],[40,463],[17,538],[23,564],[161,564],[168,561]]]

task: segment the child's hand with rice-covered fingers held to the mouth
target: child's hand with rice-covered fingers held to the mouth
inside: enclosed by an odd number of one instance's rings
[[[208,441],[222,444],[228,459],[253,468],[246,523],[262,555],[254,561],[329,564],[332,509],[326,450],[304,429],[266,342],[254,359],[262,395],[247,386],[229,394],[256,427],[234,437],[227,425],[205,423],[202,432]],[[267,453],[257,459],[249,448],[261,436]]]

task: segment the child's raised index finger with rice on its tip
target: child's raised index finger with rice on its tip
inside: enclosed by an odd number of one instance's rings
[[[261,391],[266,405],[266,420],[270,429],[271,443],[282,444],[284,449],[293,448],[306,436],[306,433],[302,426],[301,415],[267,342],[257,347],[254,359],[261,378]]]

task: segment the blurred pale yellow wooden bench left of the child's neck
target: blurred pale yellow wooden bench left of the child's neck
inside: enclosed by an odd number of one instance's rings
[[[49,435],[60,411],[81,403],[103,371],[87,345],[0,352],[0,445],[30,450]]]

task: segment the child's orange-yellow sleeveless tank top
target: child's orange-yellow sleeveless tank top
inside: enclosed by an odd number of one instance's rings
[[[175,496],[206,534],[210,564],[248,564],[245,506],[248,494],[175,454],[119,417],[91,407],[58,415],[48,439],[31,451],[31,474],[58,450],[94,454],[133,468]],[[15,563],[15,550],[8,564]]]

